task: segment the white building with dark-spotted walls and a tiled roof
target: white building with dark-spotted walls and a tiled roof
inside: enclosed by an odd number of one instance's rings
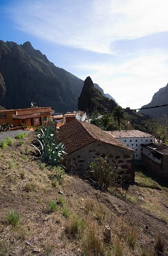
[[[132,148],[137,160],[141,160],[141,144],[151,144],[154,141],[152,135],[139,130],[108,131],[107,133]]]

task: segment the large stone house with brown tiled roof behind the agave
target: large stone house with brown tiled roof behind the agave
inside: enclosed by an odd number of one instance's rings
[[[68,168],[74,163],[85,172],[95,158],[107,156],[126,180],[134,181],[134,150],[97,126],[75,119],[60,128],[59,140],[66,145]]]

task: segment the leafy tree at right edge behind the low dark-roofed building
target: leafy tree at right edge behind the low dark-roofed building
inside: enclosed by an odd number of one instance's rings
[[[147,130],[156,138],[158,143],[160,140],[164,143],[168,138],[168,118],[164,114],[159,118],[152,118],[146,123]]]

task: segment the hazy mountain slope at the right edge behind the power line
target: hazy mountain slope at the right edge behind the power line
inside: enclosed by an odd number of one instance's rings
[[[145,106],[142,106],[142,108],[163,104],[168,104],[168,84],[165,87],[160,88],[160,90],[158,90],[158,92],[156,92],[152,97],[151,102]],[[162,116],[163,114],[168,114],[168,106],[161,108],[143,109],[139,110],[138,113],[148,114],[152,117]]]

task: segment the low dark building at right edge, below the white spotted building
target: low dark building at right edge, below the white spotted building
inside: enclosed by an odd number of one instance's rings
[[[168,145],[164,143],[142,145],[141,159],[150,172],[168,180]]]

